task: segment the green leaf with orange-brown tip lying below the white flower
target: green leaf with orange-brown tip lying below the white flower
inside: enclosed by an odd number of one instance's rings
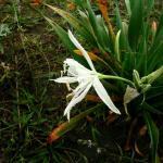
[[[84,117],[86,117],[88,114],[95,112],[96,110],[100,109],[102,105],[103,105],[103,103],[98,104],[98,105],[76,115],[75,117],[71,118],[70,122],[67,121],[67,122],[61,124],[58,128],[53,129],[49,134],[47,142],[51,143],[52,141],[57,140],[65,133],[73,129]]]

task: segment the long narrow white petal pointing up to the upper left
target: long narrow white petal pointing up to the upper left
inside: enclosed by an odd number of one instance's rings
[[[78,40],[73,36],[73,34],[72,34],[71,30],[68,30],[68,36],[70,36],[70,39],[72,40],[72,42],[76,46],[76,48],[78,48],[78,49],[82,51],[82,53],[84,54],[84,57],[85,57],[85,59],[87,60],[87,62],[88,62],[89,66],[91,67],[91,70],[92,70],[93,72],[96,72],[96,68],[95,68],[95,66],[93,66],[93,64],[92,64],[92,62],[91,62],[91,60],[90,60],[90,58],[89,58],[87,51],[80,46],[80,43],[79,43]]]

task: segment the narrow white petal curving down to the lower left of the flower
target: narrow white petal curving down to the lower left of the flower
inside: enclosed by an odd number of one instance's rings
[[[89,91],[91,85],[92,85],[92,83],[90,83],[90,84],[86,87],[86,89],[85,89],[80,95],[78,95],[78,97],[75,97],[75,98],[72,99],[72,101],[68,103],[68,105],[66,106],[66,109],[65,109],[65,111],[64,111],[64,115],[67,114],[67,117],[70,118],[70,115],[68,115],[70,111],[72,110],[72,108],[73,108],[76,103],[80,102],[80,101],[85,98],[85,96],[86,96],[87,92]],[[76,95],[75,95],[75,96],[76,96]]]

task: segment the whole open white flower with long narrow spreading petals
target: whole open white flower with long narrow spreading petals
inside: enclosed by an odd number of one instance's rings
[[[95,90],[97,91],[98,96],[101,100],[115,113],[121,114],[120,111],[116,109],[112,100],[110,99],[106,90],[104,89],[103,85],[99,80],[99,76],[102,75],[95,70],[95,66],[85,51],[85,49],[79,45],[79,42],[75,39],[71,32],[68,32],[71,40],[74,45],[83,52],[84,57],[86,58],[87,62],[89,63],[91,70],[86,68],[80,63],[75,61],[74,59],[66,59],[64,63],[68,66],[67,68],[67,76],[63,76],[57,79],[52,79],[57,83],[64,83],[64,84],[73,84],[78,83],[79,85],[73,90],[72,93],[68,96],[74,96],[66,106],[64,111],[64,115],[67,115],[67,120],[70,120],[70,111],[72,108],[80,102],[87,92],[89,91],[90,87],[93,86]]]

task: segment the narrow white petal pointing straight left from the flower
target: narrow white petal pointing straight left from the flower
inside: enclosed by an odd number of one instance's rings
[[[63,77],[59,77],[57,79],[50,79],[50,80],[54,80],[55,83],[62,83],[62,84],[73,84],[77,82],[77,77],[67,77],[67,76],[63,76]]]

